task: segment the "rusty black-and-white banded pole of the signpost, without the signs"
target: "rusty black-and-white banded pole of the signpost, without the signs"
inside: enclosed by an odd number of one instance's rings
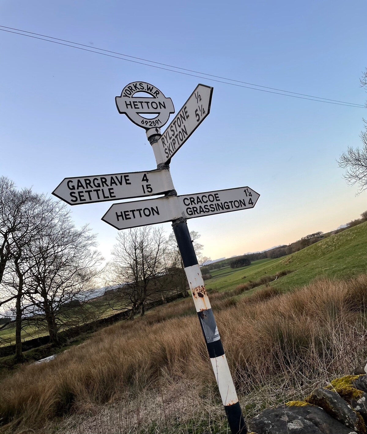
[[[157,147],[157,141],[161,136],[160,131],[157,130],[153,131],[153,128],[148,130],[147,138],[152,145],[154,156],[157,161],[157,168],[161,169],[168,167],[169,165],[164,163]],[[177,192],[172,190],[166,193],[166,196],[167,195],[177,196]],[[197,256],[193,248],[193,242],[187,227],[187,221],[183,217],[180,217],[177,220],[172,221],[172,227],[199,317],[201,330],[206,343],[206,349],[208,350],[220,397],[222,398],[224,410],[228,419],[229,428],[232,434],[246,434],[246,424],[242,416],[241,407],[229,371],[229,366],[220,340],[213,311],[210,306],[209,297],[206,293]]]

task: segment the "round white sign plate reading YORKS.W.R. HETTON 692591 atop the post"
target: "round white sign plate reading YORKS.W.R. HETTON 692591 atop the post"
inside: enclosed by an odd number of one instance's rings
[[[139,92],[139,96],[134,96]],[[141,95],[144,92],[147,95]],[[148,96],[149,95],[149,96]],[[139,127],[148,130],[164,125],[174,113],[172,99],[166,98],[155,86],[146,82],[129,83],[122,89],[121,96],[115,98],[118,112],[125,114]],[[155,115],[145,118],[143,115]]]

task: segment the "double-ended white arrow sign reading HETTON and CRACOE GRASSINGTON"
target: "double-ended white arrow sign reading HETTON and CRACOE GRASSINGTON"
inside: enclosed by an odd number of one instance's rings
[[[113,204],[102,220],[117,229],[164,223],[178,217],[194,218],[253,208],[259,193],[249,187],[207,191],[185,196]]]

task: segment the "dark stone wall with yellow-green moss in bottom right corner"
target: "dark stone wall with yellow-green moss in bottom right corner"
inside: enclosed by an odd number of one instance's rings
[[[366,363],[316,388],[303,401],[267,408],[247,421],[249,434],[366,434]]]

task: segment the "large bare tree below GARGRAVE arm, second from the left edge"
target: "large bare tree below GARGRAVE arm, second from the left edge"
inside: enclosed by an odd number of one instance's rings
[[[70,328],[81,320],[82,306],[89,299],[94,278],[103,260],[95,234],[84,226],[75,228],[63,205],[54,208],[42,236],[30,249],[31,281],[27,295],[33,318],[44,316],[50,342],[58,345],[61,326]],[[89,306],[85,306],[89,312]]]

